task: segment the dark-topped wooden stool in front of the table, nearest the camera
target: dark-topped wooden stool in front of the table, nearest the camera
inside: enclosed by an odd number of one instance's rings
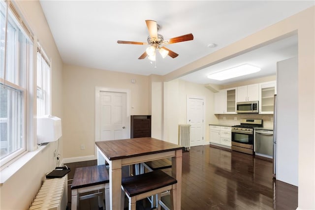
[[[165,174],[161,170],[140,174],[133,177],[126,177],[122,180],[122,189],[129,200],[129,210],[136,209],[136,201],[158,194],[156,208],[160,210],[160,193],[167,190],[173,195],[173,208],[177,210],[176,196],[177,180]]]

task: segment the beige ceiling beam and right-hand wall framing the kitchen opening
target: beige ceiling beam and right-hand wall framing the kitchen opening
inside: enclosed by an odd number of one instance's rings
[[[299,209],[315,209],[315,7],[310,7],[167,75],[165,81],[298,35]],[[310,109],[311,107],[311,109]]]

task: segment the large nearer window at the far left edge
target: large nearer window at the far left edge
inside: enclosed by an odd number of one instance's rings
[[[26,151],[27,81],[30,79],[29,71],[32,70],[33,47],[31,38],[26,34],[11,10],[6,26],[6,3],[0,1],[1,165]]]

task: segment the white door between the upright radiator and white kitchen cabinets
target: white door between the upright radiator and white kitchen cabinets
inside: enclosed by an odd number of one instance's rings
[[[188,97],[187,101],[187,123],[190,124],[190,146],[204,145],[203,140],[203,119],[204,119],[203,98]]]

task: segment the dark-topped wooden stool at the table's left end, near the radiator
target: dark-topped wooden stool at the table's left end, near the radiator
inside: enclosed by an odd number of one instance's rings
[[[80,193],[98,190],[96,193],[79,196]],[[99,192],[101,190],[101,192]],[[109,175],[105,165],[76,168],[71,184],[71,210],[76,210],[79,200],[102,196],[98,205],[102,205],[105,198],[106,210],[109,210]]]

